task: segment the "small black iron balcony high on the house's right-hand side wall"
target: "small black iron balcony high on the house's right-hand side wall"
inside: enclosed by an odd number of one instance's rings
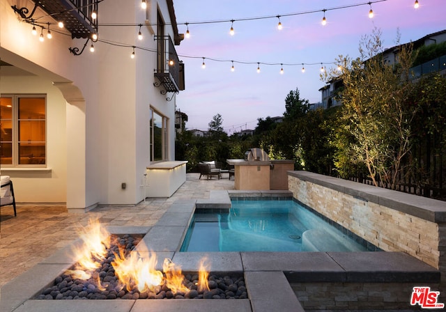
[[[170,36],[155,36],[157,41],[157,68],[155,86],[162,86],[162,94],[178,93],[185,89],[184,64],[178,59],[174,42]]]

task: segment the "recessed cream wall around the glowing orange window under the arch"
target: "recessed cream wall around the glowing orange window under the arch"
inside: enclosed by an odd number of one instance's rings
[[[1,94],[47,95],[47,169],[29,171],[2,166],[1,174],[14,182],[17,202],[66,202],[66,100],[52,81],[37,76],[0,77]]]

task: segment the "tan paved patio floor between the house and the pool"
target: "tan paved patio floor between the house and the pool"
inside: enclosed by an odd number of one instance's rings
[[[147,198],[136,206],[103,206],[69,214],[66,205],[18,204],[17,217],[13,206],[4,206],[0,209],[0,288],[77,240],[77,228],[91,218],[104,226],[153,226],[172,203],[209,198],[210,191],[218,189],[234,189],[234,181],[226,175],[220,180],[199,180],[199,173],[187,173],[186,182],[170,198]]]

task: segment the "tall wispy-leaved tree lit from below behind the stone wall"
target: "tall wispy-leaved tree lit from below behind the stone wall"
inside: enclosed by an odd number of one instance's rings
[[[381,186],[394,189],[402,160],[410,152],[410,122],[415,110],[405,103],[413,88],[408,79],[413,56],[410,45],[400,45],[397,65],[386,64],[380,37],[375,29],[362,38],[360,58],[339,56],[337,60],[343,65],[344,123],[335,144],[337,160],[353,157],[352,162],[366,166],[374,185],[383,182]],[[339,72],[332,70],[330,76],[339,77]]]

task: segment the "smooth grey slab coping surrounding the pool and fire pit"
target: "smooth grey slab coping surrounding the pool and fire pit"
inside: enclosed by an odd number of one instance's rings
[[[171,258],[183,272],[197,272],[199,259],[207,256],[212,273],[245,274],[249,299],[176,300],[36,300],[30,299],[73,263],[71,244],[56,251],[31,270],[1,288],[0,311],[117,311],[173,312],[193,306],[210,312],[304,311],[290,283],[305,282],[416,282],[439,283],[440,272],[406,253],[362,252],[179,252],[196,208],[227,208],[230,196],[289,196],[288,191],[211,191],[209,199],[177,201],[149,227],[109,226],[113,234],[146,234],[146,246],[158,259]],[[75,242],[78,244],[79,240]],[[158,261],[158,270],[161,269]]]

